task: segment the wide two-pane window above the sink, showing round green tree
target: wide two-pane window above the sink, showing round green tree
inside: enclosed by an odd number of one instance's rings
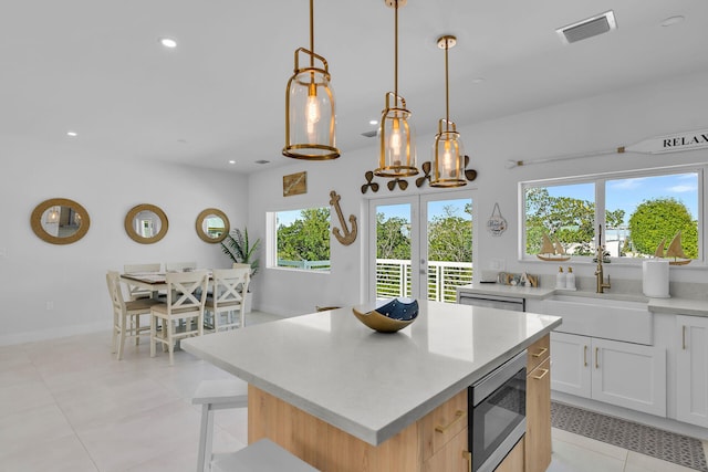
[[[523,258],[704,261],[705,167],[522,182]]]

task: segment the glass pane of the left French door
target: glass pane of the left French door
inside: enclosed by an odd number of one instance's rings
[[[376,298],[410,296],[410,204],[376,207]]]

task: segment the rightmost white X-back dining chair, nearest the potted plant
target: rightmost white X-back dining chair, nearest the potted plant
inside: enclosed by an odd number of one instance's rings
[[[205,312],[210,315],[215,332],[244,326],[243,302],[248,293],[251,269],[215,269],[211,271],[214,290],[207,296]],[[236,313],[240,319],[236,319]],[[206,315],[205,315],[206,316]]]

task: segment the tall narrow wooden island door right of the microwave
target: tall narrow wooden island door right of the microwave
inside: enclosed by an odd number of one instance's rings
[[[551,463],[551,359],[527,377],[525,472],[544,472]]]

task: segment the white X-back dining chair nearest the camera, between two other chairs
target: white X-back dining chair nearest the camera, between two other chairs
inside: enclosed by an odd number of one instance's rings
[[[204,305],[207,300],[209,272],[168,272],[167,298],[150,307],[150,357],[155,357],[157,343],[167,346],[169,365],[175,363],[175,342],[184,337],[204,334]],[[157,333],[157,321],[162,321],[162,333]],[[185,323],[175,326],[175,322]]]

